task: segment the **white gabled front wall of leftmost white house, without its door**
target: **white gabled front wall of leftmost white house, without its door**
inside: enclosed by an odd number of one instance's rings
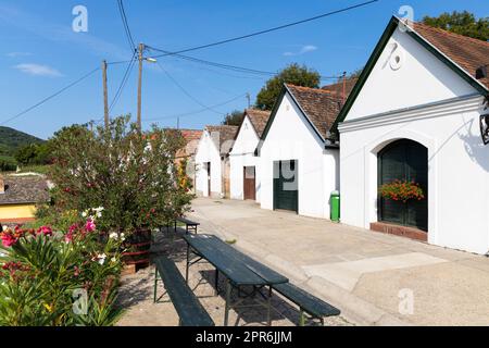
[[[204,132],[196,153],[197,175],[196,189],[198,195],[209,196],[208,172],[205,163],[211,163],[211,195],[220,196],[223,192],[222,163],[216,146],[211,139],[209,132]]]

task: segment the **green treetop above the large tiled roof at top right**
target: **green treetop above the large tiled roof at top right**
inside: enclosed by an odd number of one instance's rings
[[[489,17],[476,20],[475,15],[467,11],[446,12],[437,17],[425,16],[423,23],[482,41],[489,40]]]

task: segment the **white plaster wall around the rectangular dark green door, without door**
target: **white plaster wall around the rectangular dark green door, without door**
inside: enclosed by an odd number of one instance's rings
[[[333,163],[335,154],[325,156],[323,141],[314,134],[300,110],[286,95],[274,123],[261,148],[261,204],[263,209],[274,207],[274,161],[299,161],[299,214],[329,219],[330,188],[337,178],[335,170],[325,165]]]

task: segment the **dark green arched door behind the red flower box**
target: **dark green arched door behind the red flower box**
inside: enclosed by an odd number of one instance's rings
[[[396,179],[419,184],[425,199],[403,203],[379,196],[378,221],[428,232],[428,149],[409,139],[386,146],[378,153],[378,186]]]

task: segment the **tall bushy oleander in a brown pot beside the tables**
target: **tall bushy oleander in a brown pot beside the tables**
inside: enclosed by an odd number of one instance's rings
[[[176,211],[189,210],[193,196],[180,185],[175,162],[185,145],[181,134],[156,126],[140,133],[129,119],[117,117],[93,132],[74,125],[54,135],[48,210],[103,207],[99,228],[125,238],[127,263],[146,263],[151,231]]]

